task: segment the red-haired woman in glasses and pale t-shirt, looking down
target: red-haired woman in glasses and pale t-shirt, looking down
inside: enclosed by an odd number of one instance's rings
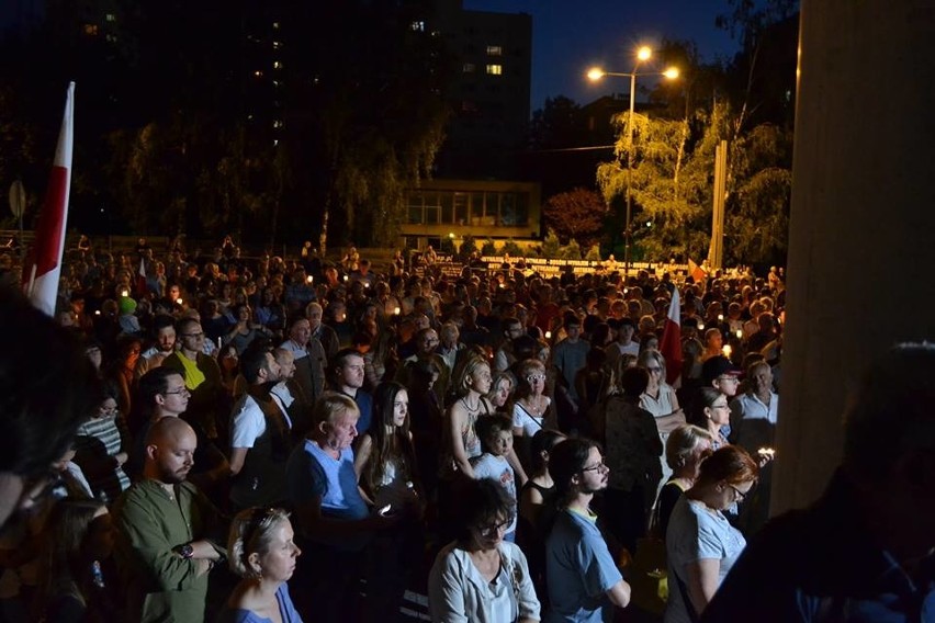
[[[675,505],[666,531],[665,623],[697,621],[740,557],[746,540],[724,511],[750,495],[758,474],[745,450],[726,445],[701,463],[698,479]]]

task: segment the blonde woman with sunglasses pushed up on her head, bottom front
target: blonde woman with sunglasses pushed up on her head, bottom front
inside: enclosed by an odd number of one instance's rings
[[[292,523],[279,508],[247,509],[234,518],[227,541],[230,570],[243,578],[218,623],[300,623],[286,582],[302,551]]]

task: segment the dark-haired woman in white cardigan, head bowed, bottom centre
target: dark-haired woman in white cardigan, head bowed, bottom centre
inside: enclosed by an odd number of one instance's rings
[[[539,600],[522,551],[504,541],[516,509],[492,478],[464,484],[458,534],[429,573],[431,620],[441,623],[539,621]]]

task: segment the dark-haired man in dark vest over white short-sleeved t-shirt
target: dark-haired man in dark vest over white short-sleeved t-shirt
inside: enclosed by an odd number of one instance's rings
[[[240,355],[240,372],[249,387],[230,418],[230,503],[235,511],[283,506],[292,422],[270,394],[280,367],[269,350],[254,346]]]

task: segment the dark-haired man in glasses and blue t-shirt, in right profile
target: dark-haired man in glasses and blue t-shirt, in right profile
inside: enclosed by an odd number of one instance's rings
[[[590,510],[594,495],[607,488],[610,469],[593,441],[568,439],[552,449],[549,471],[560,512],[545,543],[551,607],[543,621],[600,623],[605,609],[630,603],[630,585]]]

